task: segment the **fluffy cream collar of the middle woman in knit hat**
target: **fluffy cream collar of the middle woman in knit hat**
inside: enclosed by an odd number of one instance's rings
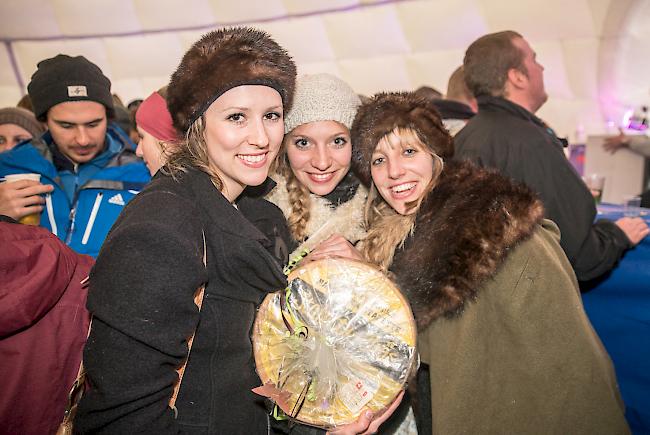
[[[266,199],[277,205],[285,218],[291,214],[291,203],[289,192],[287,192],[287,181],[284,177],[273,175],[277,186],[266,196]],[[366,231],[363,228],[363,210],[368,197],[368,189],[359,184],[352,199],[333,205],[322,196],[309,194],[310,219],[307,223],[307,234],[311,236],[326,223],[331,228],[348,239],[350,243],[356,243],[363,239]]]

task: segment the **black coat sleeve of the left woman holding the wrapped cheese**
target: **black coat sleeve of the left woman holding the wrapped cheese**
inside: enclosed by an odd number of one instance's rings
[[[75,432],[178,433],[168,402],[198,323],[193,297],[206,273],[191,206],[163,199],[126,211],[91,274],[90,389]]]

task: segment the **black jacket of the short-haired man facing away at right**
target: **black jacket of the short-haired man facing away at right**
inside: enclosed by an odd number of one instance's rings
[[[546,217],[560,228],[560,245],[580,281],[611,270],[630,241],[613,222],[594,223],[594,199],[553,131],[503,98],[482,96],[478,103],[478,115],[454,138],[454,157],[495,168],[536,191]]]

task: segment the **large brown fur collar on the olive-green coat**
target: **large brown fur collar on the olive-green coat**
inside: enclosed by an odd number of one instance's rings
[[[446,162],[390,267],[418,327],[460,314],[543,216],[525,186],[467,162]]]

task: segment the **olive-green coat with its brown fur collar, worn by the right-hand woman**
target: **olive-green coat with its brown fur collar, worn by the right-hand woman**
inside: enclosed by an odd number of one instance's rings
[[[395,252],[433,434],[630,433],[559,230],[542,216],[524,187],[450,163]]]

